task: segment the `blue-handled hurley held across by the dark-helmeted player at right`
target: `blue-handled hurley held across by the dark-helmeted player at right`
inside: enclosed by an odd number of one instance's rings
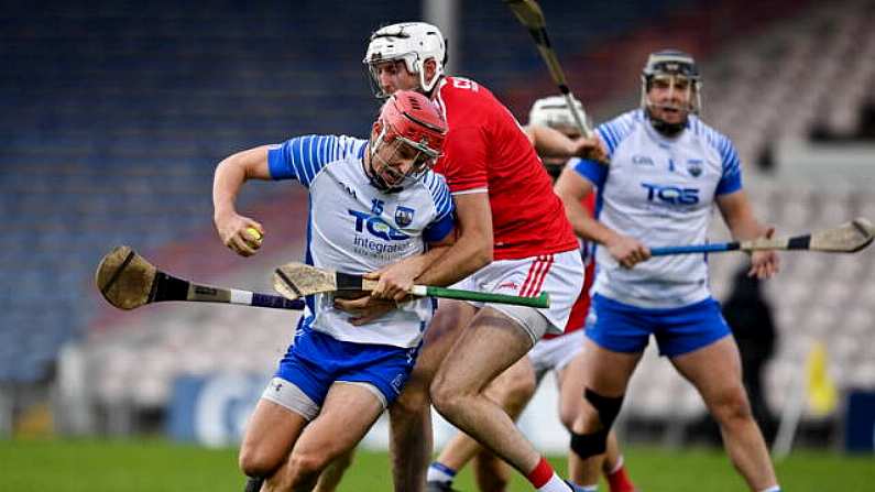
[[[858,217],[833,229],[809,234],[751,241],[715,242],[679,247],[650,248],[652,256],[690,253],[722,253],[726,251],[809,250],[830,253],[855,253],[872,243],[875,226]]]

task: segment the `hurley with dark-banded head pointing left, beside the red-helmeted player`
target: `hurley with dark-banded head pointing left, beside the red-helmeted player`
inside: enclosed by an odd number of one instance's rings
[[[214,287],[175,277],[156,269],[127,245],[114,248],[100,260],[95,283],[109,304],[125,310],[163,300],[304,309],[303,300],[239,288]]]

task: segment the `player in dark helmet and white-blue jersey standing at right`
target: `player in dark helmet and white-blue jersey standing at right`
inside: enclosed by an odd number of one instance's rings
[[[581,161],[556,186],[575,231],[600,244],[584,405],[571,439],[590,461],[587,483],[593,486],[608,430],[654,336],[720,424],[729,457],[751,490],[779,490],[742,384],[739,349],[708,288],[706,259],[649,258],[648,247],[706,241],[714,206],[736,240],[774,232],[753,215],[732,143],[698,118],[700,95],[690,55],[653,53],[642,75],[642,108],[597,129],[609,165]],[[594,188],[598,221],[579,206]],[[753,253],[751,262],[750,275],[778,271],[774,252]]]

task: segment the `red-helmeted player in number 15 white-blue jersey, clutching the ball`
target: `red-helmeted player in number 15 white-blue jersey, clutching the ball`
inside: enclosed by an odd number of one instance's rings
[[[231,155],[216,168],[216,229],[237,253],[255,253],[260,240],[248,229],[264,230],[236,211],[238,192],[247,179],[295,179],[310,196],[307,263],[357,274],[395,264],[395,285],[412,286],[455,238],[449,189],[431,171],[446,129],[425,96],[401,91],[383,105],[370,140],[308,135]],[[381,282],[376,291],[385,289]],[[430,298],[393,307],[353,326],[330,294],[307,297],[247,427],[248,491],[310,490],[395,400],[435,307]]]

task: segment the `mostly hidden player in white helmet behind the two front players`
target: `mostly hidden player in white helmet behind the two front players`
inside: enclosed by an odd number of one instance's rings
[[[575,103],[579,113],[583,113],[580,102],[576,100]],[[542,98],[532,106],[526,130],[533,143],[536,135],[532,130],[540,125],[559,130],[572,139],[580,136],[580,131],[575,125],[573,117],[562,96]],[[554,181],[568,162],[561,157],[545,157],[543,161]],[[587,210],[595,214],[594,194],[588,195],[581,203]],[[514,419],[519,416],[535,395],[544,376],[550,371],[556,375],[559,390],[559,419],[562,425],[570,430],[580,412],[580,395],[583,393],[583,326],[587,322],[590,308],[589,287],[595,276],[592,247],[593,244],[589,241],[580,242],[580,253],[586,265],[586,280],[583,289],[571,308],[565,332],[545,335],[526,357],[495,378],[485,390],[485,394],[500,404]],[[480,491],[497,491],[507,488],[510,477],[504,462],[491,452],[484,451],[469,436],[458,433],[428,467],[426,491],[452,491],[453,478],[471,460],[474,461],[474,479]],[[569,452],[568,468],[572,482],[583,483],[583,460],[577,453]],[[633,492],[635,490],[626,473],[623,456],[620,453],[613,431],[608,437],[608,452],[602,461],[602,473],[608,480],[610,492]]]

